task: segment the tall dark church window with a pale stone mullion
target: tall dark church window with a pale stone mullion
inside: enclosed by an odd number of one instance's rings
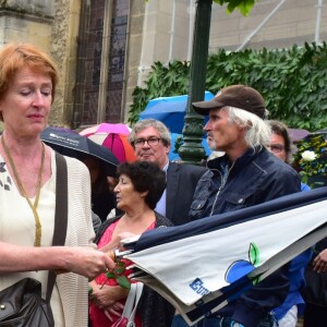
[[[83,0],[73,128],[122,121],[129,0]]]

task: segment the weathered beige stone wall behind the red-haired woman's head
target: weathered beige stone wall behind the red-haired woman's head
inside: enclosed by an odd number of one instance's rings
[[[75,0],[0,1],[0,47],[8,43],[31,43],[55,59],[60,84],[50,123],[71,121],[75,78],[80,2]]]

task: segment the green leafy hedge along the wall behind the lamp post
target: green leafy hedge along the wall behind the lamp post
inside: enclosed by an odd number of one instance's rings
[[[129,122],[138,120],[147,102],[160,96],[187,94],[190,63],[154,63],[146,87],[133,93]],[[305,44],[281,50],[219,50],[208,58],[206,89],[216,94],[232,84],[258,89],[270,112],[291,128],[316,131],[327,126],[327,45]]]

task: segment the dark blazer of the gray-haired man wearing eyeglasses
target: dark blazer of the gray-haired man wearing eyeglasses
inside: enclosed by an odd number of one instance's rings
[[[205,171],[207,171],[206,168],[195,165],[169,162],[167,170],[166,217],[174,226],[190,221],[189,211],[194,191]]]

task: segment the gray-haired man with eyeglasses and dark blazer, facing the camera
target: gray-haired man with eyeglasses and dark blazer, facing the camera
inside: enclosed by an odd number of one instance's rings
[[[129,141],[137,160],[156,162],[166,171],[167,189],[156,206],[156,211],[170,219],[175,226],[189,222],[193,193],[206,169],[169,161],[170,132],[158,120],[138,121],[131,131]]]

